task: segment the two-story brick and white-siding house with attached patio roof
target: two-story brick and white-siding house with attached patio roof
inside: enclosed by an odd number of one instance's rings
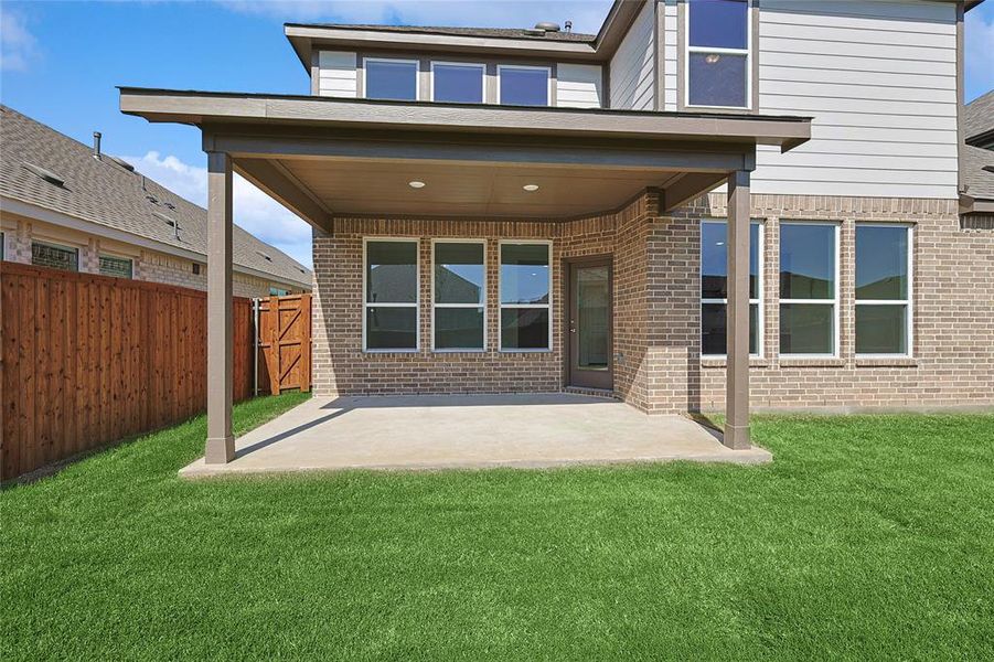
[[[994,232],[959,215],[976,4],[295,23],[310,96],[122,88],[121,109],[201,127],[212,232],[233,168],[314,226],[318,395],[598,389],[724,406],[740,448],[749,406],[994,405]]]

